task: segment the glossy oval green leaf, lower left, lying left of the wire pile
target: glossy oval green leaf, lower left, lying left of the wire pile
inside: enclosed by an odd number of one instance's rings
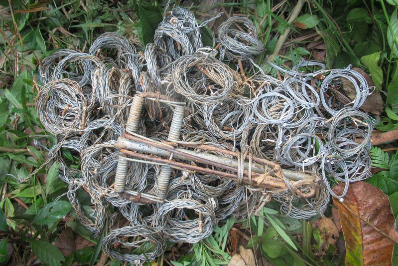
[[[54,201],[43,207],[36,215],[33,223],[36,225],[45,225],[58,221],[67,215],[72,205],[67,201]]]

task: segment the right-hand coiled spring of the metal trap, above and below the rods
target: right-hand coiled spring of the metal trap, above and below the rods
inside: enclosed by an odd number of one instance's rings
[[[185,106],[176,106],[174,109],[173,119],[171,120],[170,131],[167,140],[178,141],[180,138],[182,120],[185,115]],[[164,199],[167,194],[168,183],[171,176],[172,168],[170,166],[163,166],[160,169],[157,177],[157,197]]]

